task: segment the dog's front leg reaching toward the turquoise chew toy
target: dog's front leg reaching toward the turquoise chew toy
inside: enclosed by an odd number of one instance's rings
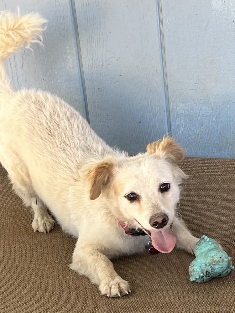
[[[172,231],[176,236],[176,247],[194,254],[194,248],[199,239],[191,234],[181,218],[174,217]]]

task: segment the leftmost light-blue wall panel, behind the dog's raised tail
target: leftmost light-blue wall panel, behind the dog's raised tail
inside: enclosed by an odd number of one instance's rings
[[[85,116],[69,1],[0,0],[0,9],[22,14],[38,12],[49,23],[43,33],[44,49],[33,44],[34,54],[21,49],[6,62],[13,86],[36,88],[58,95]]]

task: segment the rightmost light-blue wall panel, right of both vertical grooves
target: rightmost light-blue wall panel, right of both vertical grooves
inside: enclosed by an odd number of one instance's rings
[[[162,0],[173,135],[187,156],[235,157],[235,2]]]

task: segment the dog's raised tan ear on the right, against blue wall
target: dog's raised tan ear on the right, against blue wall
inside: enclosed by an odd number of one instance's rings
[[[165,137],[162,140],[150,143],[147,146],[147,152],[170,161],[180,161],[184,157],[184,150],[171,137]]]

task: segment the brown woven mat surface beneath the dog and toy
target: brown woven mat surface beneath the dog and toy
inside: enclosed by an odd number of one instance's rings
[[[235,264],[235,160],[186,158],[190,175],[183,185],[179,212],[196,236],[218,240]],[[101,296],[96,285],[68,267],[75,240],[56,225],[34,233],[32,214],[11,192],[0,167],[1,313],[158,313],[235,311],[235,270],[205,284],[189,281],[194,259],[183,251],[150,256],[147,252],[113,261],[130,281],[132,294]]]

